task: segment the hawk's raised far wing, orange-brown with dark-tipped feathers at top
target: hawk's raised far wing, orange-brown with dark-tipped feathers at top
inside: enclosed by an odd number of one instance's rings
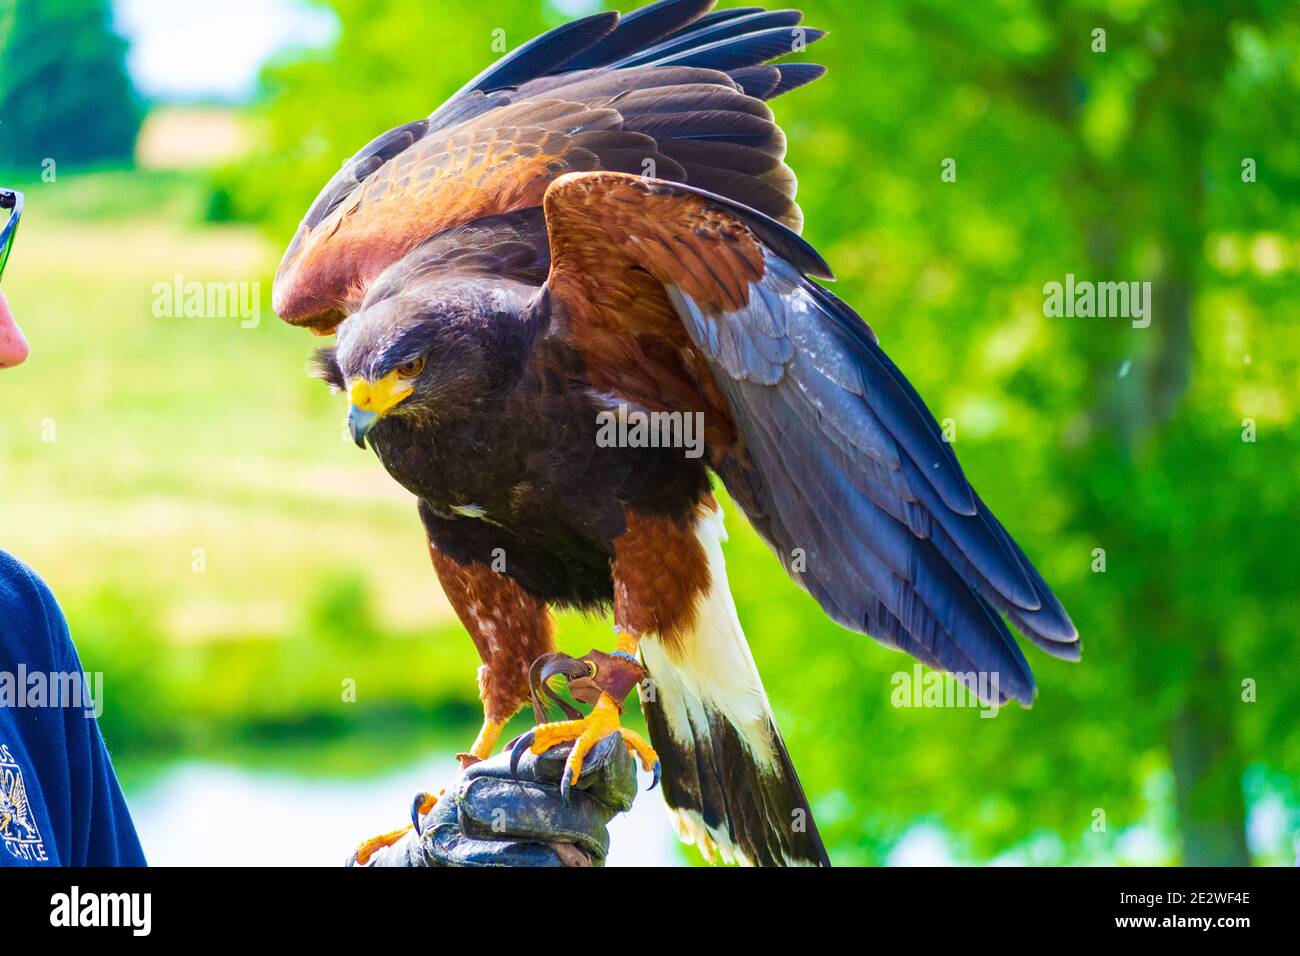
[[[276,312],[328,334],[420,242],[538,208],[568,172],[690,182],[798,228],[785,139],[764,100],[823,69],[764,64],[822,33],[798,27],[798,10],[706,14],[714,1],[567,23],[365,146],[298,228],[276,274]]]

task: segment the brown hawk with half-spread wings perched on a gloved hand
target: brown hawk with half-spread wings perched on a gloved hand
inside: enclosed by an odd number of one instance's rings
[[[800,238],[768,101],[824,73],[772,64],[822,31],[712,3],[560,26],[378,137],[307,212],[274,308],[337,333],[318,372],[417,498],[484,662],[463,762],[562,674],[590,713],[566,704],[517,747],[573,741],[566,784],[621,732],[710,858],[824,865],[728,592],[714,476],[831,618],[994,675],[996,702],[1035,693],[1008,622],[1057,657],[1079,644],[876,336],[814,281],[831,269]],[[608,441],[614,415],[699,423],[699,446]],[[552,607],[612,610],[614,650],[556,654]],[[620,727],[633,687],[649,743]]]

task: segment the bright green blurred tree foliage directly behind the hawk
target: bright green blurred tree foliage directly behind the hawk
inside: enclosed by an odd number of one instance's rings
[[[338,46],[268,72],[266,148],[238,170],[244,213],[281,241],[344,157],[494,59],[497,31],[514,48],[563,18],[542,0],[329,5]],[[831,74],[775,108],[809,238],[953,420],[1086,645],[1080,665],[1031,654],[1030,713],[894,708],[911,661],[827,623],[733,518],[741,619],[833,858],[888,860],[918,823],[958,860],[1288,858],[1295,5],[801,5],[831,30],[807,56]],[[1067,273],[1149,281],[1149,326],[1048,317]],[[1266,805],[1283,826],[1252,830]]]

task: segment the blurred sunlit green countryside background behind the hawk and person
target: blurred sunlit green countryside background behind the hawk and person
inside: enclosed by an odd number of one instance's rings
[[[272,276],[341,163],[494,31],[602,7],[0,0],[0,183],[27,198],[4,289],[32,345],[0,376],[0,546],[104,674],[151,861],[339,862],[472,739],[477,659],[413,502],[307,377]],[[1079,665],[1028,652],[1032,710],[893,706],[911,659],[828,623],[733,515],[832,858],[1295,862],[1295,5],[802,7],[831,73],[775,108],[806,234],[1084,641]],[[1045,317],[1067,273],[1150,281],[1150,326]],[[252,307],[159,308],[190,282]],[[607,636],[560,622],[566,650]],[[699,857],[651,793],[612,862]]]

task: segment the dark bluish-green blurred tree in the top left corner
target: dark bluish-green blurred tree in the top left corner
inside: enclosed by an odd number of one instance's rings
[[[0,165],[129,163],[126,48],[109,0],[0,0]]]

